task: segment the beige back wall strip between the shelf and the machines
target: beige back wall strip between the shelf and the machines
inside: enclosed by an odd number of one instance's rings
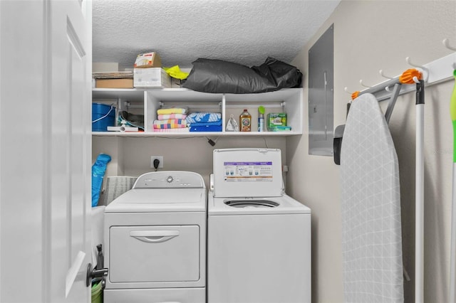
[[[195,171],[203,176],[206,186],[209,185],[209,174],[212,174],[214,149],[277,148],[281,149],[282,163],[286,164],[285,137],[219,137],[214,147],[205,137],[93,137],[92,145],[93,162],[100,153],[112,157],[106,176],[140,176],[154,170],[150,168],[150,156],[163,156],[161,171]]]

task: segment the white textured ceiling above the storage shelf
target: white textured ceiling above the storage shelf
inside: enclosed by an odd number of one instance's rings
[[[163,66],[197,58],[289,63],[340,0],[93,0],[93,62],[133,68],[156,51]]]

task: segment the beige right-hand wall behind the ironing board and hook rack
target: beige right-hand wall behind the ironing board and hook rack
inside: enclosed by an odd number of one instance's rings
[[[363,90],[387,75],[400,75],[415,63],[429,63],[452,53],[456,45],[455,1],[347,1],[301,50],[292,64],[304,73],[304,117],[308,112],[308,51],[334,23],[334,125],[345,123],[348,90]],[[299,30],[297,31],[299,34]],[[449,75],[451,76],[451,75]],[[425,94],[425,302],[448,301],[450,211],[452,191],[453,81],[427,87]],[[382,105],[384,107],[384,105]],[[307,119],[306,119],[307,121]],[[412,281],[405,282],[405,302],[414,296],[415,216],[415,94],[399,98],[390,129],[400,161],[404,265]],[[309,127],[302,137],[286,140],[287,186],[294,198],[312,209],[313,302],[343,302],[339,169],[331,157],[309,155]]]

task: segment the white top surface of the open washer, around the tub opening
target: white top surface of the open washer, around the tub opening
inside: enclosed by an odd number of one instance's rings
[[[284,194],[281,197],[214,198],[209,194],[209,216],[225,215],[276,215],[311,213],[311,209]]]

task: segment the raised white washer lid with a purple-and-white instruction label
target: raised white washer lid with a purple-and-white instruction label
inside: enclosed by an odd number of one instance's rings
[[[280,197],[280,149],[214,149],[215,197]]]

